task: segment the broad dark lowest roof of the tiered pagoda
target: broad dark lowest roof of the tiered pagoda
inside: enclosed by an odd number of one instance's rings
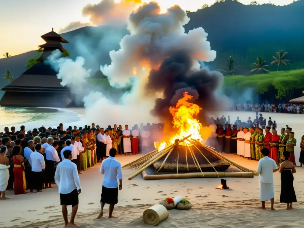
[[[10,92],[68,92],[68,88],[60,84],[57,72],[50,65],[37,63],[26,70],[11,84],[2,88]]]

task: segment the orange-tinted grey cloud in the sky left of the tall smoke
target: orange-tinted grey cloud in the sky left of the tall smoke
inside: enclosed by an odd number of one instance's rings
[[[89,23],[79,21],[71,22],[60,33],[68,32],[84,26],[122,26],[125,25],[130,13],[139,6],[141,0],[102,0],[97,4],[85,5],[82,9],[82,16],[89,18]]]

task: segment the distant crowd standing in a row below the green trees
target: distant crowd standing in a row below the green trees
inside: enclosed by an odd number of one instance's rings
[[[247,112],[279,112],[279,113],[294,113],[303,114],[304,104],[296,103],[279,103],[279,104],[234,104],[230,111],[247,111]]]

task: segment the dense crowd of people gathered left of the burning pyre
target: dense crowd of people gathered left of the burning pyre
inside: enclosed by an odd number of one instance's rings
[[[81,174],[109,157],[111,148],[125,155],[149,152],[153,148],[150,131],[160,129],[162,124],[149,123],[135,125],[132,130],[128,125],[125,129],[116,124],[113,128],[102,128],[94,123],[83,128],[69,126],[66,130],[62,123],[57,128],[42,126],[28,131],[25,126],[17,131],[13,126],[5,127],[0,132],[0,199],[7,199],[6,190],[19,195],[52,188],[57,165],[64,161],[65,151],[71,151],[71,162]]]

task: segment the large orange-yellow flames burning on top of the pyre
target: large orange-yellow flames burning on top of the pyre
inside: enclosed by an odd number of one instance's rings
[[[170,138],[168,142],[154,142],[154,147],[158,151],[163,150],[171,144],[174,144],[175,140],[182,139],[191,135],[189,140],[196,140],[200,143],[203,142],[201,137],[202,124],[196,118],[199,111],[202,109],[199,105],[188,102],[193,96],[188,92],[184,92],[184,97],[179,99],[177,104],[170,106],[169,112],[173,116],[173,127],[177,129],[177,133]],[[180,145],[190,145],[189,142],[181,142]]]

